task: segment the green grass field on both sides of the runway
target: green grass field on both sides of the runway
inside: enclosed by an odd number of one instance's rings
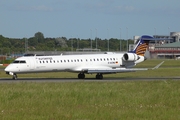
[[[137,67],[152,68],[161,61],[147,60]],[[179,77],[179,70],[180,61],[165,60],[157,70],[104,78]],[[3,71],[0,76],[11,77]],[[19,77],[76,78],[77,74],[38,73]],[[0,83],[1,120],[177,120],[179,113],[179,80]]]

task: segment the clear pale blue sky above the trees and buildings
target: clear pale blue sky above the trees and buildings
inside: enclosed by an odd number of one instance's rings
[[[0,0],[0,35],[132,39],[180,32],[180,0]]]

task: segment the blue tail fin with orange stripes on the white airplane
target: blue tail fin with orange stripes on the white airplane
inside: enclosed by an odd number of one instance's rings
[[[152,40],[153,37],[143,35],[141,36],[140,40],[138,41],[136,47],[132,51],[133,53],[136,53],[137,55],[144,56],[146,49],[149,46],[149,41]]]

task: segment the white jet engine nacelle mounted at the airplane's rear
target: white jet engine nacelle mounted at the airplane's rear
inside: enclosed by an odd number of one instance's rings
[[[124,61],[136,61],[139,59],[139,56],[135,53],[125,53],[122,59]]]

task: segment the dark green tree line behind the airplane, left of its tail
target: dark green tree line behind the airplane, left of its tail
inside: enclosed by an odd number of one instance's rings
[[[133,40],[129,39],[128,44],[133,44]],[[97,48],[101,51],[127,51],[127,40],[117,38],[45,38],[41,32],[35,33],[30,38],[7,38],[0,35],[1,55],[23,54],[26,51],[76,51],[84,48]]]

